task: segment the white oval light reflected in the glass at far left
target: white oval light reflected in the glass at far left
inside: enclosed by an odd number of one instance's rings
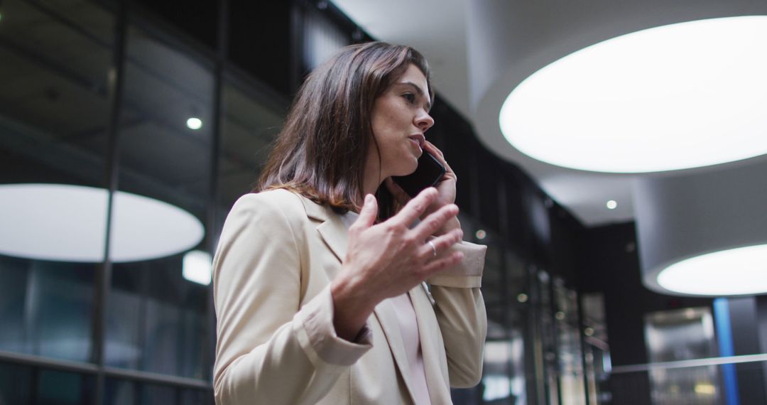
[[[0,255],[57,262],[104,260],[108,191],[64,184],[0,185]],[[176,255],[198,245],[202,223],[179,207],[117,191],[112,262]]]

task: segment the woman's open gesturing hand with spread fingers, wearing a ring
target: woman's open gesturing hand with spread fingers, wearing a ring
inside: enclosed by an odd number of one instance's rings
[[[428,240],[456,218],[458,207],[454,204],[436,209],[415,228],[409,228],[436,198],[436,189],[425,189],[397,215],[375,224],[376,199],[365,197],[360,217],[349,228],[349,247],[341,274],[331,284],[334,325],[339,336],[351,340],[380,301],[402,295],[461,261],[463,254],[449,251],[463,237],[460,228]]]

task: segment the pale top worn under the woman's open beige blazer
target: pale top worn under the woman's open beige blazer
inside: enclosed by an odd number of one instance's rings
[[[357,220],[357,212],[347,212],[341,216],[344,224],[351,226]],[[431,403],[429,397],[429,388],[426,385],[426,370],[423,369],[423,354],[421,353],[421,340],[418,331],[418,322],[416,321],[416,311],[413,309],[413,301],[410,301],[410,295],[407,292],[397,297],[388,298],[381,301],[379,305],[388,305],[394,314],[397,314],[397,326],[400,328],[402,341],[405,345],[407,354],[407,364],[410,370],[403,372],[410,373],[412,381],[413,395],[416,397],[416,403]]]

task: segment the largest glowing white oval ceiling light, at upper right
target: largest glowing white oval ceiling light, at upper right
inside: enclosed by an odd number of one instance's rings
[[[680,170],[767,153],[767,16],[612,38],[522,81],[499,117],[517,150],[607,173]]]

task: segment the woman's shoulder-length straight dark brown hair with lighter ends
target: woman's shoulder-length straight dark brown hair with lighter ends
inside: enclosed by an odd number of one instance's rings
[[[356,211],[370,143],[378,150],[371,126],[375,100],[410,64],[426,76],[433,99],[426,59],[403,45],[350,45],[312,71],[288,111],[254,192],[290,189],[336,212]],[[379,218],[392,216],[397,206],[386,186],[376,196]]]

